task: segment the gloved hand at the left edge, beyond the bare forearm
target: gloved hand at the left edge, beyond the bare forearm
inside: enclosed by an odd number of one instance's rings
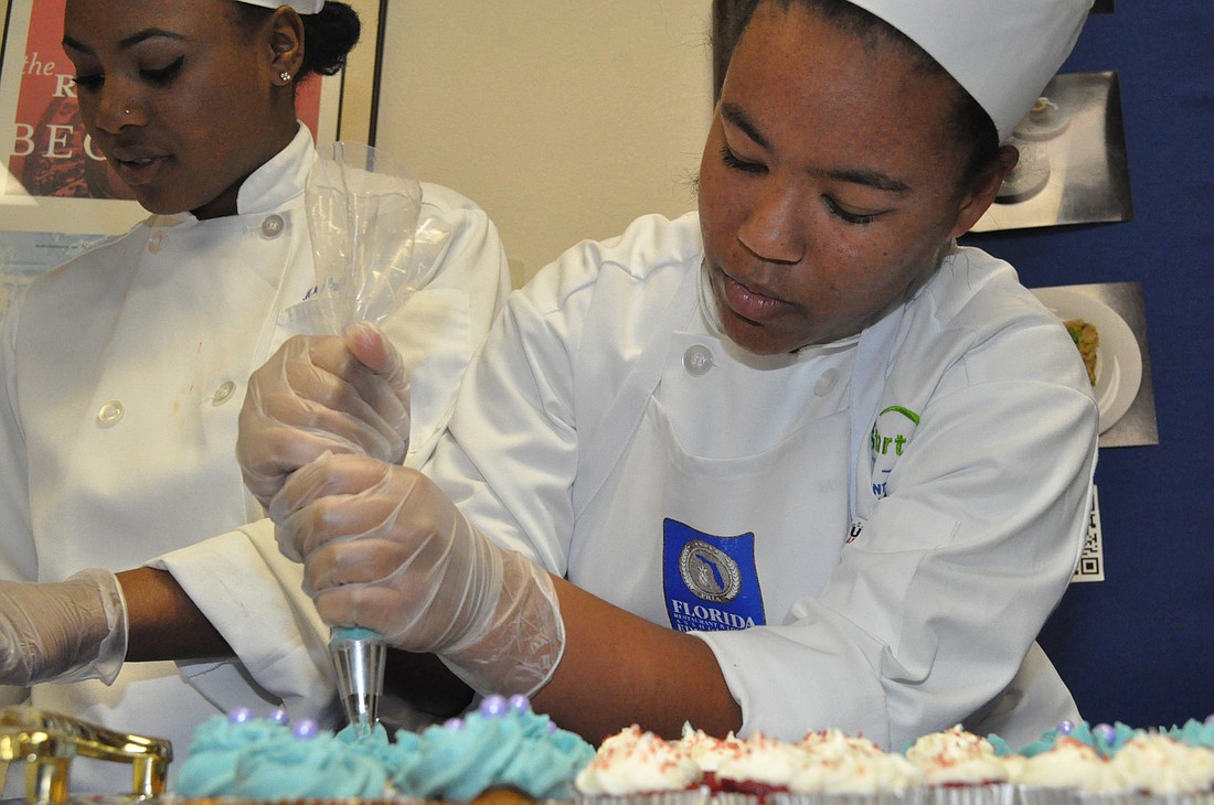
[[[114,681],[126,657],[126,601],[108,570],[62,582],[0,581],[0,684]]]

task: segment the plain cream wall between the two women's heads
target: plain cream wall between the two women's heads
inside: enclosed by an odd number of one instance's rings
[[[376,147],[483,206],[529,276],[694,207],[710,0],[391,0]]]

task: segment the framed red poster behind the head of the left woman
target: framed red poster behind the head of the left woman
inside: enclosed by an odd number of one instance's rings
[[[0,62],[0,233],[114,234],[147,213],[109,171],[80,122],[73,68],[59,44],[66,0],[5,2]],[[341,75],[311,78],[299,118],[320,143],[370,142],[386,0],[348,0],[363,34]]]

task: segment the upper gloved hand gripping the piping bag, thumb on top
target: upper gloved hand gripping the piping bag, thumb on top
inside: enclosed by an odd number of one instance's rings
[[[236,450],[245,486],[262,506],[324,452],[401,463],[408,447],[409,377],[370,324],[340,338],[290,338],[249,378]]]

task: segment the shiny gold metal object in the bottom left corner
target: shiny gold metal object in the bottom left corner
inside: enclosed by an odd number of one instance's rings
[[[172,744],[33,707],[0,709],[0,761],[25,763],[27,803],[66,803],[68,764],[76,755],[130,764],[130,795],[146,799],[164,793]]]

